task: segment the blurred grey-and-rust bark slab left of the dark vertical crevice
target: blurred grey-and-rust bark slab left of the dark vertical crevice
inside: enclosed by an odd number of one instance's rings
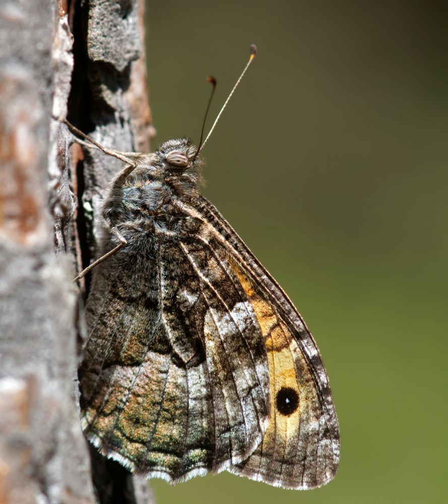
[[[0,502],[94,502],[74,395],[73,268],[54,253],[55,243],[66,250],[60,223],[73,198],[48,163],[70,61],[62,71],[63,58],[59,68],[52,59],[63,39],[54,5],[9,3],[1,14],[4,40],[15,43],[0,47]]]

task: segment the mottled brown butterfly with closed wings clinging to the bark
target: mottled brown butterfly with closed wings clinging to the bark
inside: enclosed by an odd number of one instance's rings
[[[284,488],[330,481],[339,425],[321,355],[199,193],[199,149],[187,139],[133,156],[98,147],[125,166],[106,190],[100,259],[87,269],[88,439],[173,483],[223,470]]]

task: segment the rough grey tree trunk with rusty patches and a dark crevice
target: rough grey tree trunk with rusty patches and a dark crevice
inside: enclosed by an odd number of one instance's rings
[[[91,457],[79,422],[86,331],[72,279],[93,256],[90,209],[119,166],[69,152],[51,118],[149,150],[142,41],[143,0],[0,1],[0,504],[152,502],[146,482]]]

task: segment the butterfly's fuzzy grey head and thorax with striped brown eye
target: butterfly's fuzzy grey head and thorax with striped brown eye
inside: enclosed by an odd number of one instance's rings
[[[188,230],[190,217],[182,202],[199,194],[201,161],[195,154],[189,139],[170,140],[155,153],[139,156],[137,168],[122,184],[109,186],[102,214],[129,242],[127,253],[134,246],[134,251],[146,254],[148,245],[177,239]],[[103,236],[103,251],[117,243],[110,232]]]

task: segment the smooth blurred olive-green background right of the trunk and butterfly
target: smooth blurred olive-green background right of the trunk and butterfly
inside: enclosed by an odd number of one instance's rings
[[[158,143],[199,140],[204,194],[292,298],[327,366],[341,465],[300,492],[229,473],[157,503],[447,502],[448,5],[147,6]],[[206,129],[208,131],[208,128]]]

